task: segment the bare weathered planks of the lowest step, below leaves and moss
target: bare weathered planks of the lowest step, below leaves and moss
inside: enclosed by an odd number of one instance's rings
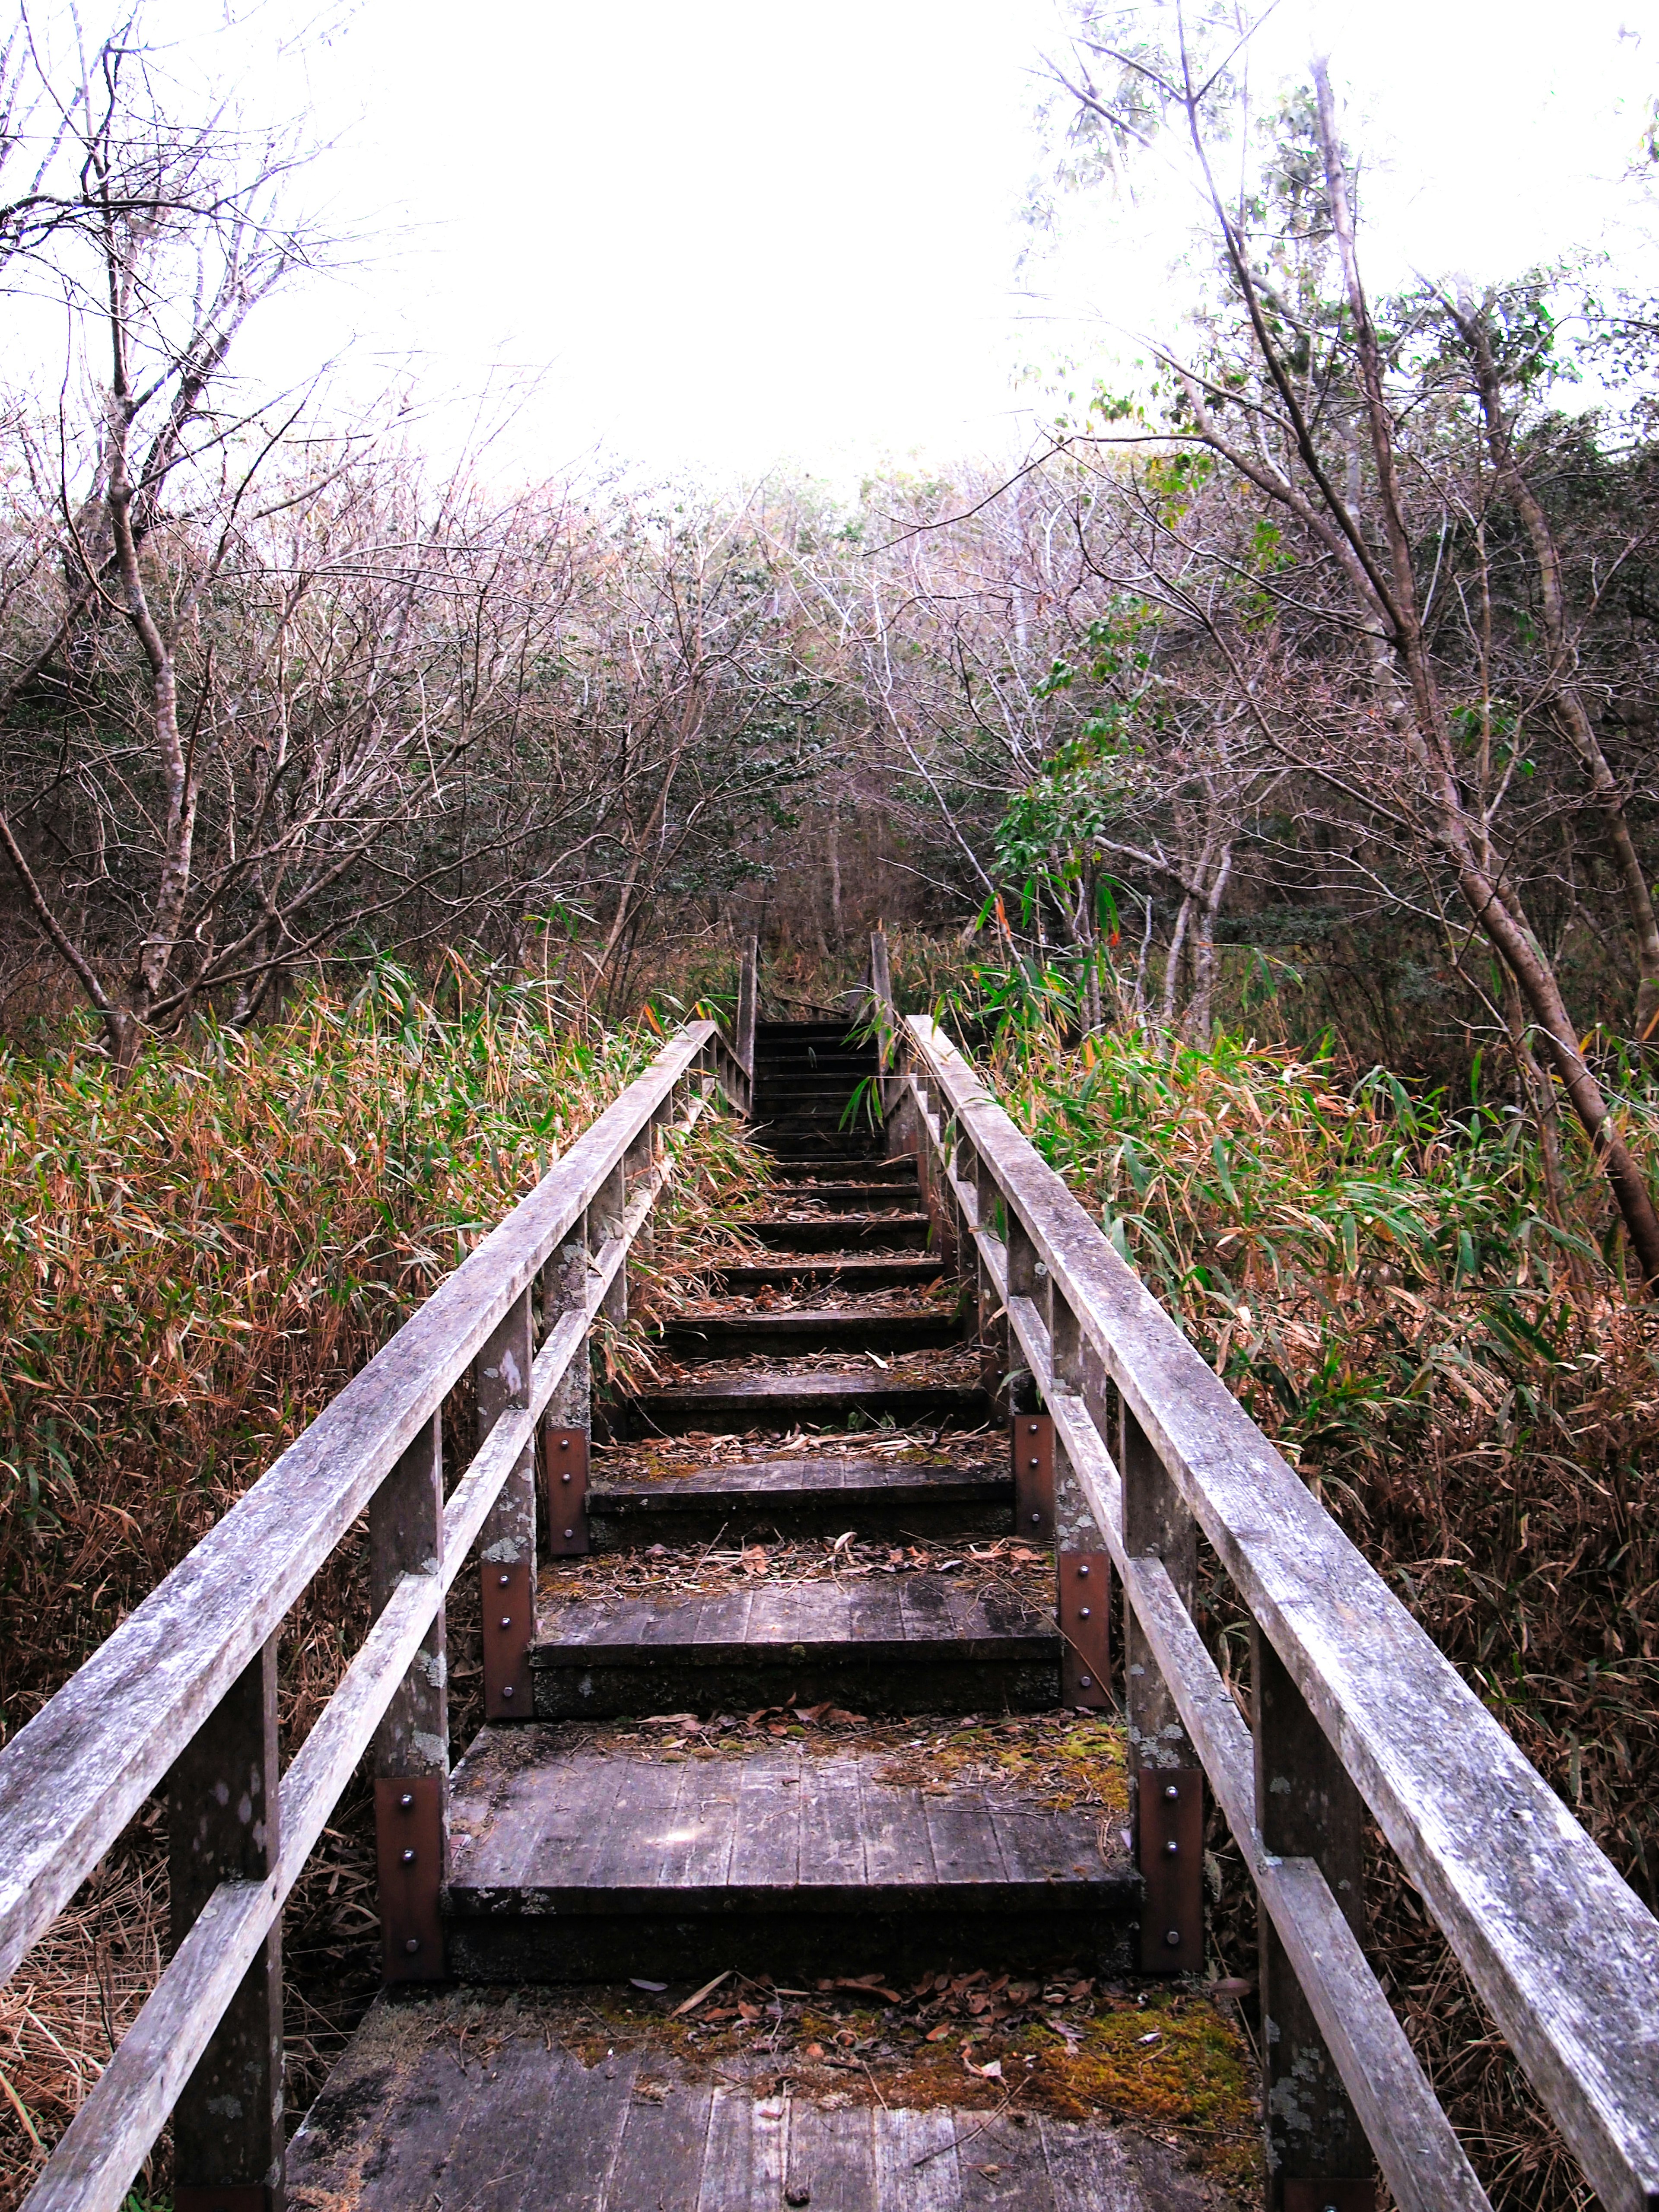
[[[531,2020],[380,2000],[288,2152],[290,2212],[1219,2212],[1179,2152],[1031,2115],[807,2101]]]

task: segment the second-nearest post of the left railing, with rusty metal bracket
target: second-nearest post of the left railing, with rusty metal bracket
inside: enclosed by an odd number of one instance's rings
[[[442,1416],[434,1413],[369,1506],[369,1604],[405,1575],[436,1575],[445,1555]],[[420,1641],[374,1736],[374,1858],[387,1982],[445,1971],[438,1891],[449,1838],[449,1672],[445,1608]]]

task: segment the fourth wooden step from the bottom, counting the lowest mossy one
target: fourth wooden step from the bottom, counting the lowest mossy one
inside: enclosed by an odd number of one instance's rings
[[[891,1460],[745,1460],[688,1475],[606,1478],[588,1486],[588,1533],[597,1548],[708,1544],[719,1535],[783,1537],[1002,1535],[1013,1515],[1013,1478],[1000,1469]]]

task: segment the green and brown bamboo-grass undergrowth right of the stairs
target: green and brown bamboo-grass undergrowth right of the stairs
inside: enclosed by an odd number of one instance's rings
[[[1593,1164],[1557,1219],[1502,1102],[962,1011],[1013,1119],[1652,1905],[1659,1323],[1601,1256]],[[1201,1626],[1248,1712],[1248,1619],[1208,1551]],[[1254,1898],[1212,1843],[1219,1966],[1250,1975]],[[1378,1836],[1369,1878],[1374,1964],[1493,2203],[1590,2205]]]

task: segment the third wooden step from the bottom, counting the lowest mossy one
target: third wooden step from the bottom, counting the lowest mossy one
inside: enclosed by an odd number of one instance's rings
[[[845,1526],[845,1522],[843,1522]],[[553,1599],[531,1650],[538,1721],[648,1712],[1046,1712],[1060,1630],[1002,1584],[865,1575],[719,1597]]]

